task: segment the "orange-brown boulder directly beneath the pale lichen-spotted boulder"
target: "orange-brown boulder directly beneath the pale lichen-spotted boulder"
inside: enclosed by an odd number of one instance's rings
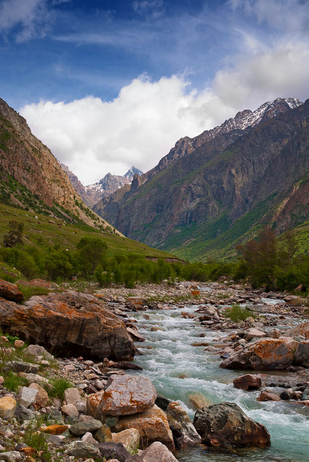
[[[166,414],[156,405],[147,411],[120,417],[119,422],[112,430],[121,432],[128,428],[138,430],[141,435],[143,447],[151,445],[154,441],[160,441],[171,451],[175,449],[173,435],[169,428]]]

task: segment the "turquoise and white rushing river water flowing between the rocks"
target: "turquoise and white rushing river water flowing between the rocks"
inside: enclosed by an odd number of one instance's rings
[[[137,344],[137,347],[152,347],[141,349],[144,355],[137,356],[135,363],[153,381],[157,393],[178,401],[191,419],[194,410],[188,399],[190,393],[203,393],[210,404],[223,401],[237,403],[248,416],[266,426],[271,435],[271,447],[233,453],[196,447],[178,451],[177,459],[183,462],[308,462],[309,408],[286,401],[258,402],[258,391],[244,392],[234,388],[233,378],[244,371],[221,369],[219,365],[222,360],[216,352],[191,346],[193,342],[212,342],[225,334],[182,318],[183,309],[193,312],[197,306],[147,311],[146,316],[141,311],[133,314],[138,320],[139,332],[147,339],[143,344]],[[160,330],[151,331],[152,327],[159,327]],[[201,333],[206,334],[206,337],[199,338]],[[267,379],[278,379],[284,373],[267,375]],[[279,390],[274,388],[274,391]]]

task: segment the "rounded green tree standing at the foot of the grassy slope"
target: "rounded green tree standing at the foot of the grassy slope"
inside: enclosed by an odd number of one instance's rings
[[[77,246],[79,266],[84,274],[93,275],[95,268],[101,264],[105,267],[107,245],[99,237],[84,236]]]

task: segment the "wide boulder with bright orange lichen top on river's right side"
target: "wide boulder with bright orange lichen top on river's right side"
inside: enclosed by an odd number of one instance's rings
[[[265,338],[244,346],[233,353],[220,367],[227,369],[281,370],[291,366],[294,355],[291,345],[284,337]]]

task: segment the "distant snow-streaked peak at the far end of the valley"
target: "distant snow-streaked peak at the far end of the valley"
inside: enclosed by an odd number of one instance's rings
[[[142,175],[143,172],[134,165],[128,170],[125,175],[112,175],[108,173],[97,183],[93,185],[84,186],[84,201],[89,207],[93,207],[100,199],[107,197],[114,191],[124,185],[130,185],[132,183],[134,175]],[[77,177],[76,177],[77,178]],[[78,179],[77,179],[78,180]],[[73,183],[72,183],[73,184]],[[75,187],[75,184],[73,184]]]

